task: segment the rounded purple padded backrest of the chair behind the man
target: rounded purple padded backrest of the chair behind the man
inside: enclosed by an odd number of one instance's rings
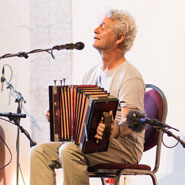
[[[146,116],[150,119],[156,119],[161,122],[166,121],[167,116],[167,100],[164,93],[156,86],[146,84],[146,92],[144,95],[144,109]],[[159,142],[160,131],[147,125],[145,132],[144,151],[147,151]]]

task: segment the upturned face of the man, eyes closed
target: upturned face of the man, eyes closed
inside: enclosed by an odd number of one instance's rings
[[[116,35],[113,33],[115,21],[105,17],[103,22],[94,30],[93,46],[101,51],[112,49],[116,46]]]

